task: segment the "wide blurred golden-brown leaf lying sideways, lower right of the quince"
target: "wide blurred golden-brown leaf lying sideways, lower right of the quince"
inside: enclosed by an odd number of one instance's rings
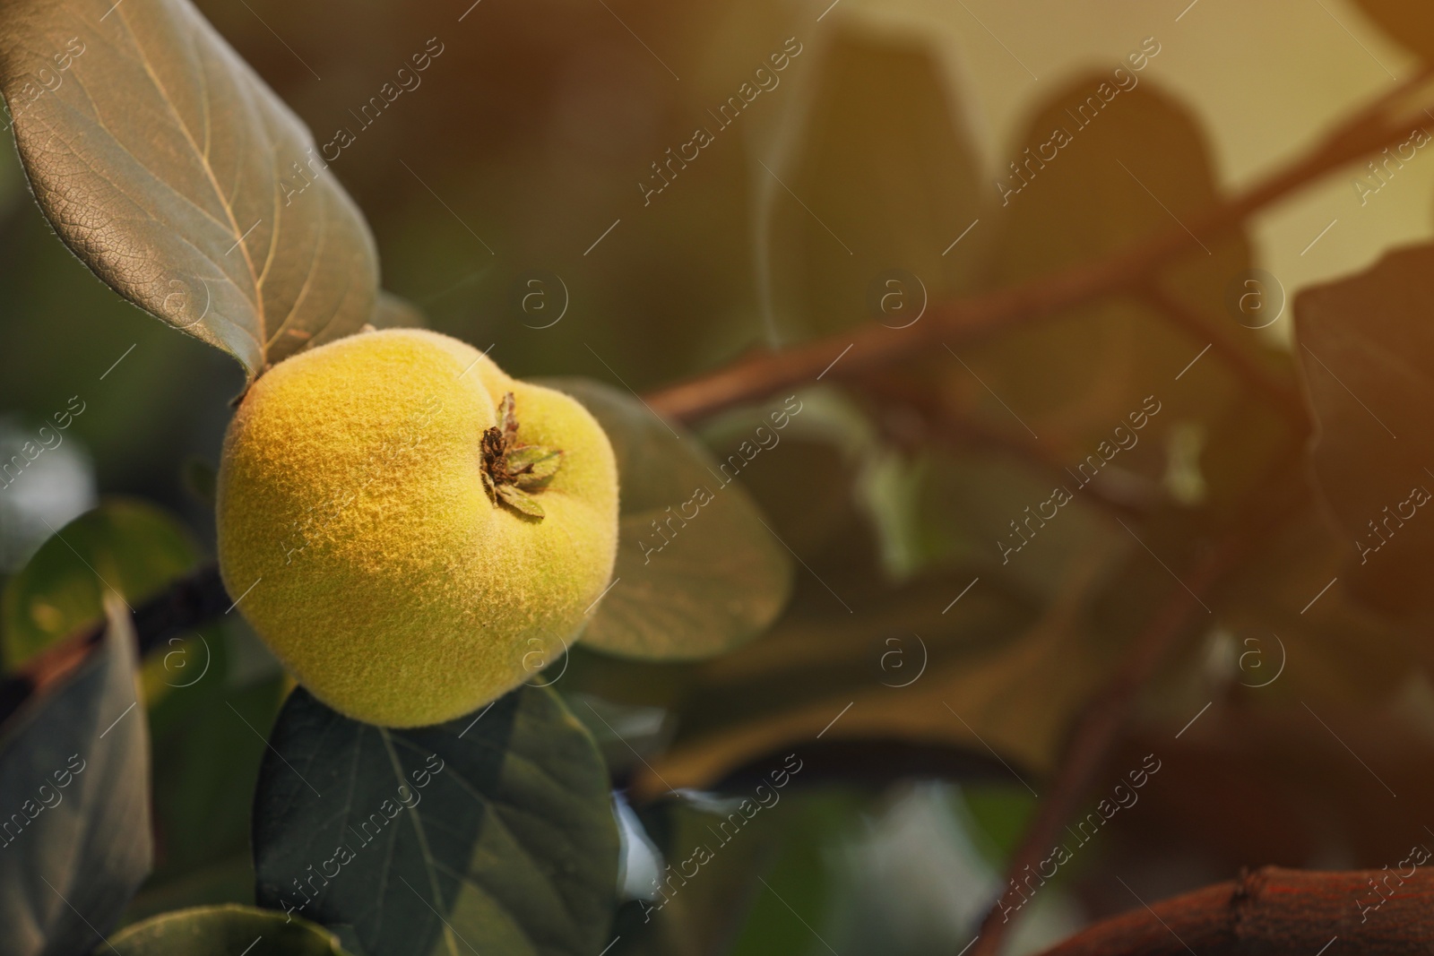
[[[982,757],[991,747],[1022,773],[1048,773],[1121,651],[1096,639],[1096,570],[1044,606],[971,572],[843,589],[855,613],[829,595],[799,596],[763,641],[703,665],[674,708],[677,740],[637,768],[632,788],[641,798],[711,787],[817,734]]]

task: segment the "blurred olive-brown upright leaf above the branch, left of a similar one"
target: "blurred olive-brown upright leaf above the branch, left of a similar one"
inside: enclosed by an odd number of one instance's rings
[[[977,284],[989,224],[952,248],[981,216],[977,150],[931,43],[837,24],[810,56],[820,60],[806,64],[816,83],[792,123],[802,140],[790,168],[774,149],[770,171],[753,173],[774,311],[807,334],[903,328]]]

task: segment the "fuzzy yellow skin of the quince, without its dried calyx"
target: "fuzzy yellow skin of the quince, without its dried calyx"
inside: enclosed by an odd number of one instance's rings
[[[479,447],[508,391],[519,440],[564,451],[535,493],[542,520],[483,489]],[[225,588],[300,682],[370,724],[453,720],[532,679],[607,588],[617,527],[597,420],[436,333],[363,333],[280,363],[224,440]]]

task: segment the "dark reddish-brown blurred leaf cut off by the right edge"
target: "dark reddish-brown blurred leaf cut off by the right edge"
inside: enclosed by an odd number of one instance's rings
[[[1312,457],[1345,539],[1349,586],[1392,611],[1434,611],[1434,245],[1391,252],[1295,301],[1299,358],[1319,420]],[[1427,489],[1427,490],[1420,490]]]

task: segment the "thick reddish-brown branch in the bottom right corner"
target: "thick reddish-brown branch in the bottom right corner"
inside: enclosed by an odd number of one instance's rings
[[[1375,904],[1378,909],[1362,909]],[[1400,877],[1394,869],[1318,873],[1265,867],[1149,909],[1137,903],[1041,956],[1315,956],[1336,937],[1331,956],[1428,952],[1434,873],[1414,870]]]

